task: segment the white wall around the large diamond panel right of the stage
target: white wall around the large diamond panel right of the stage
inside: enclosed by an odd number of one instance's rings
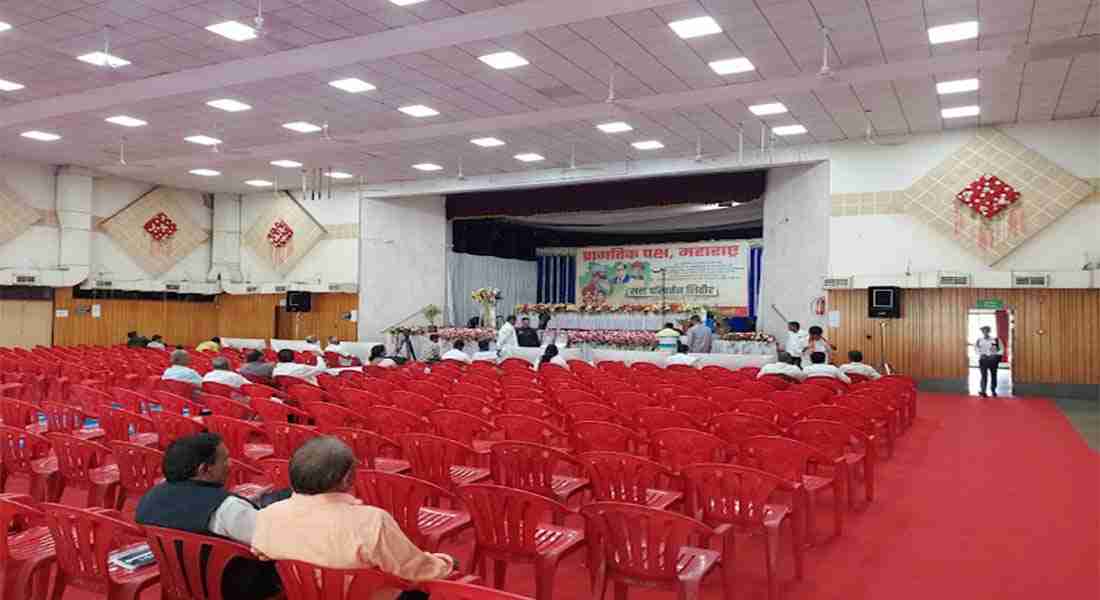
[[[1000,128],[1077,177],[1100,177],[1100,119]],[[833,194],[904,189],[975,135],[974,130],[922,135],[899,146],[833,144]],[[990,268],[908,215],[831,217],[831,274],[887,275]],[[993,271],[1076,271],[1085,254],[1100,257],[1100,204],[1081,203],[998,262]],[[767,249],[765,250],[767,262]]]

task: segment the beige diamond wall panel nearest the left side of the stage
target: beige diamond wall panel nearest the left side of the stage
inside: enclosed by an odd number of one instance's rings
[[[283,221],[294,234],[292,239],[287,240],[286,246],[276,248],[272,246],[267,234],[279,221]],[[271,208],[244,233],[243,243],[256,257],[267,261],[276,273],[285,275],[327,233],[308,212],[298,206],[298,203],[285,194],[278,194],[271,203]]]

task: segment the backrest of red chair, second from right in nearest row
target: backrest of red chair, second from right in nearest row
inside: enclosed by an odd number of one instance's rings
[[[504,486],[473,483],[460,486],[458,493],[470,511],[477,545],[516,555],[537,555],[542,542],[536,536],[538,525],[572,513],[544,495]]]

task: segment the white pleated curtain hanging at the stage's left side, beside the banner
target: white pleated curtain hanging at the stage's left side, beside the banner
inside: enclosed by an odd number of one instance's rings
[[[497,316],[513,313],[517,304],[534,303],[538,288],[538,268],[534,261],[498,259],[450,252],[447,258],[447,306],[452,325],[464,327],[470,317],[481,315],[481,305],[470,299],[479,287],[496,287],[503,298]]]

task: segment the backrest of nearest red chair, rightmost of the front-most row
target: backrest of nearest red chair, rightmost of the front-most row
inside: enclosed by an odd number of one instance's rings
[[[594,502],[581,509],[597,533],[609,575],[644,581],[675,582],[684,546],[702,546],[714,530],[671,511],[625,502]]]

